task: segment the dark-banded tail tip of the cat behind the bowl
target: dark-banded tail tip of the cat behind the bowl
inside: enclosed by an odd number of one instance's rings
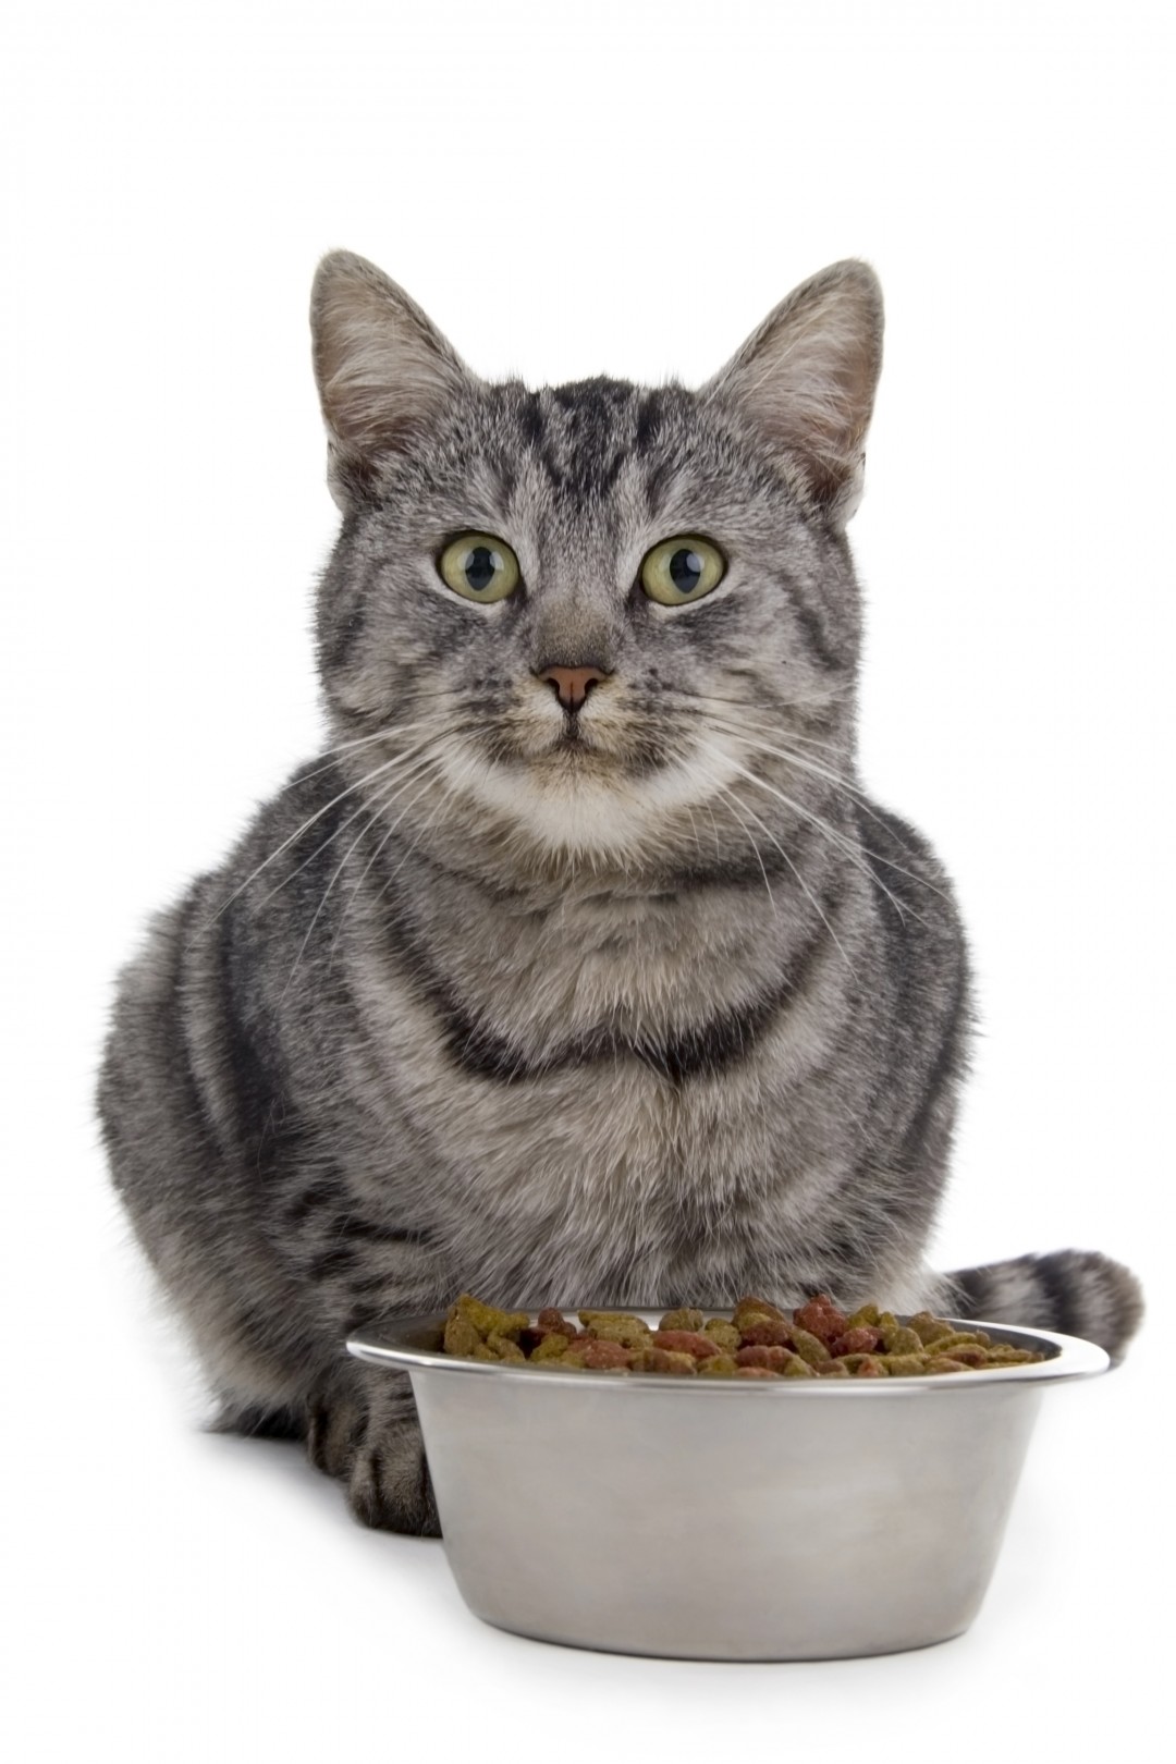
[[[1130,1268],[1093,1249],[989,1261],[945,1275],[952,1316],[1053,1328],[1097,1341],[1113,1360],[1143,1319],[1143,1288]]]

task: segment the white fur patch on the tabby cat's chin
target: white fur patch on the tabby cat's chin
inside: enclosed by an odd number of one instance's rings
[[[640,776],[575,764],[506,767],[469,755],[441,762],[455,796],[506,817],[548,852],[617,859],[652,857],[666,836],[691,843],[689,813],[714,801],[739,771],[719,753],[670,760]]]

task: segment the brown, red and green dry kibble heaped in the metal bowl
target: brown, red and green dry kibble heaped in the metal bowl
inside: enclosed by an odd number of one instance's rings
[[[624,1311],[497,1311],[471,1293],[450,1305],[444,1351],[562,1372],[666,1372],[677,1378],[924,1378],[1028,1365],[1042,1353],[957,1330],[919,1311],[908,1323],[878,1305],[839,1311],[818,1293],[795,1311],[741,1298],[730,1318],[666,1311],[651,1327]]]

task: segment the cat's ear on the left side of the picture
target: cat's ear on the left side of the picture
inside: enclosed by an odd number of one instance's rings
[[[414,300],[351,250],[323,258],[310,293],[314,377],[340,508],[368,492],[374,464],[404,452],[428,418],[478,385]]]

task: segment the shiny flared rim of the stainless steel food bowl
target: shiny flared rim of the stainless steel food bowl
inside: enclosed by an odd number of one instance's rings
[[[518,1305],[518,1311],[527,1309],[529,1314],[534,1312],[534,1305]],[[571,1309],[571,1307],[564,1307]],[[596,1305],[594,1309],[605,1309]],[[596,1378],[569,1378],[568,1372],[561,1372],[554,1367],[545,1365],[518,1365],[511,1360],[464,1360],[457,1355],[443,1353],[437,1348],[420,1346],[421,1335],[435,1335],[439,1328],[444,1327],[446,1311],[425,1311],[414,1316],[393,1316],[386,1319],[376,1319],[361,1334],[347,1337],[347,1353],[354,1355],[356,1360],[365,1360],[370,1365],[383,1365],[388,1371],[402,1372],[446,1372],[451,1376],[474,1376],[474,1378],[508,1378],[513,1381],[524,1379],[527,1385],[532,1383],[555,1383],[564,1390],[707,1390],[712,1394],[723,1394],[725,1397],[739,1395],[746,1390],[772,1390],[778,1395],[788,1394],[788,1401],[795,1397],[813,1397],[816,1392],[822,1394],[822,1401],[827,1392],[834,1392],[837,1397],[862,1397],[867,1395],[876,1399],[882,1392],[903,1392],[903,1394],[924,1394],[943,1390],[975,1390],[979,1387],[1000,1383],[1061,1383],[1072,1378],[1093,1378],[1098,1372],[1105,1372],[1111,1367],[1111,1355],[1105,1348],[1100,1348],[1093,1341],[1083,1341],[1079,1335],[1063,1335],[1058,1330],[1037,1330],[1021,1328],[1012,1323],[984,1323],[977,1318],[943,1318],[943,1323],[952,1323],[961,1330],[986,1330],[994,1341],[1007,1341],[1014,1348],[1031,1348],[1040,1353],[1049,1351],[1046,1360],[1038,1360],[1031,1365],[993,1365],[977,1367],[975,1371],[964,1372],[959,1378],[952,1376],[927,1376],[926,1372],[906,1372],[896,1378],[666,1378],[665,1372],[626,1372],[624,1376],[607,1372]],[[644,1311],[644,1309],[626,1309],[624,1316],[636,1316],[644,1319],[658,1319],[661,1311]],[[903,1323],[904,1318],[899,1318]],[[416,1341],[413,1341],[416,1337]]]

